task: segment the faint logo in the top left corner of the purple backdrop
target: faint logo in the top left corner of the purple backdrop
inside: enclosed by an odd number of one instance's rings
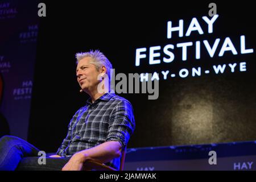
[[[0,3],[0,19],[15,18],[18,11],[10,2]]]

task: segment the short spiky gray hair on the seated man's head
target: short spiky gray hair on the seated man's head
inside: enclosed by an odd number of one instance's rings
[[[106,56],[100,52],[99,50],[90,50],[90,52],[81,52],[81,53],[76,53],[76,59],[77,59],[77,64],[79,63],[79,61],[81,59],[84,59],[84,57],[91,57],[92,59],[90,60],[90,64],[95,65],[97,71],[102,67],[105,66],[106,67],[106,74],[109,77],[110,80],[110,70],[112,69],[112,64],[110,63],[110,61],[108,60],[108,58],[106,58]]]

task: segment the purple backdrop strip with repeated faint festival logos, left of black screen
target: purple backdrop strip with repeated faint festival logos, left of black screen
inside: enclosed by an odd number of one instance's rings
[[[39,29],[37,1],[1,1],[0,27],[0,137],[27,139]]]

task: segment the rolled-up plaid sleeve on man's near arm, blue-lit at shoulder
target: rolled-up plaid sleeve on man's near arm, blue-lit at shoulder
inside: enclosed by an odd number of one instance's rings
[[[126,147],[135,129],[133,107],[127,100],[121,100],[110,115],[106,141],[118,141]]]

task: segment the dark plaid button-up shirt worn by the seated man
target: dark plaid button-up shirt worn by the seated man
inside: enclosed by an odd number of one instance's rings
[[[68,125],[67,137],[57,150],[57,155],[69,157],[107,141],[118,141],[124,148],[135,129],[133,107],[125,98],[105,93],[94,103],[86,101]],[[119,169],[120,158],[108,166]]]

